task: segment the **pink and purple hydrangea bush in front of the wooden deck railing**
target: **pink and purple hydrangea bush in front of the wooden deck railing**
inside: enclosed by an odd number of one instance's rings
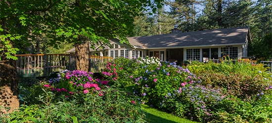
[[[75,93],[98,93],[103,95],[101,88],[107,85],[107,81],[94,79],[91,72],[81,70],[63,70],[57,73],[55,78],[50,78],[44,85],[45,89],[59,92],[69,97]]]

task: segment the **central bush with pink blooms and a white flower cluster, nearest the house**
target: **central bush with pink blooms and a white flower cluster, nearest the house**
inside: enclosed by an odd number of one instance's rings
[[[158,58],[138,58],[129,59],[119,57],[112,62],[107,62],[107,67],[101,72],[105,80],[109,81],[110,85],[120,84],[121,87],[126,87],[134,84],[134,77],[141,74],[142,68],[147,65],[157,67],[160,63]]]

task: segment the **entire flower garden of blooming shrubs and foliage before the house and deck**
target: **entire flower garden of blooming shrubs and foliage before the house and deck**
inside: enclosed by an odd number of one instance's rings
[[[99,78],[63,70],[21,80],[20,109],[0,122],[146,123],[145,104],[199,123],[272,123],[271,80],[264,65],[242,60],[181,66],[120,57]]]

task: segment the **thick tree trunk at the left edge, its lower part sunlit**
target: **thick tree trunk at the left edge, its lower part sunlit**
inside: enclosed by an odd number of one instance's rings
[[[19,107],[16,61],[3,58],[0,61],[0,114]],[[6,110],[9,107],[10,110]]]

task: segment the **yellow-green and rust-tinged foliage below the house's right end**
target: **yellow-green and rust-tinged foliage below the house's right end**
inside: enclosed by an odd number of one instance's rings
[[[272,82],[264,78],[271,78],[262,64],[251,62],[222,62],[189,65],[202,80],[201,85],[212,85],[220,88],[227,95],[235,95],[241,99],[250,100],[260,90],[264,90]]]

